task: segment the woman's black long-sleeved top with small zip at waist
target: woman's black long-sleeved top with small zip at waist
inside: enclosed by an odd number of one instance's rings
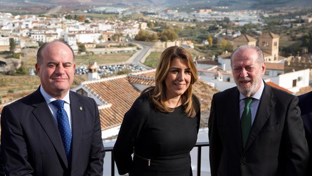
[[[195,96],[193,102],[199,105]],[[170,113],[160,112],[148,93],[141,95],[124,114],[114,145],[119,174],[148,175],[156,171],[161,175],[189,175],[190,151],[196,144],[200,124],[198,109],[194,118],[184,112],[182,105]]]

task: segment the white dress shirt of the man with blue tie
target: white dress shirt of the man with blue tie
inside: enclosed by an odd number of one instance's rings
[[[57,108],[51,103],[52,101],[56,100],[55,98],[53,98],[51,95],[49,95],[48,93],[46,93],[46,91],[44,91],[44,89],[42,88],[42,86],[40,85],[40,92],[43,96],[43,98],[45,99],[45,102],[48,104],[49,109],[53,115],[54,121],[57,125],[57,119],[56,119],[56,111]],[[71,114],[71,102],[70,102],[70,91],[67,92],[67,94],[65,95],[64,98],[62,98],[61,100],[64,100],[64,109],[67,113],[68,116],[68,120],[70,122],[70,127],[72,129],[72,114]]]

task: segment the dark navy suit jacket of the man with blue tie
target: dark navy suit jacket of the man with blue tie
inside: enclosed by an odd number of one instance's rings
[[[72,91],[70,101],[71,164],[39,89],[4,107],[1,143],[7,175],[102,176],[105,151],[97,104],[92,98]]]

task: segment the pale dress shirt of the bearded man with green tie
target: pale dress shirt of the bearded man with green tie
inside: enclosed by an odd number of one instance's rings
[[[256,114],[257,114],[257,110],[258,110],[259,103],[261,100],[261,95],[262,95],[263,89],[264,89],[264,83],[263,83],[263,80],[261,80],[260,88],[258,89],[258,91],[254,95],[251,96],[254,98],[252,103],[249,106],[249,108],[252,111],[252,125],[254,124],[254,121],[256,118]],[[244,111],[244,108],[245,108],[245,100],[244,100],[245,98],[246,98],[246,96],[239,92],[239,116],[240,116],[240,118],[241,118],[242,112]]]

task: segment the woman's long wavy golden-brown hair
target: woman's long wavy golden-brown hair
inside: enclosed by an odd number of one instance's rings
[[[188,67],[191,70],[191,82],[190,86],[181,95],[182,105],[184,111],[188,116],[193,118],[199,110],[199,102],[192,98],[193,84],[198,80],[197,69],[193,63],[192,55],[189,51],[179,46],[171,46],[166,48],[160,56],[156,74],[155,74],[155,86],[148,87],[143,90],[141,94],[148,92],[151,102],[155,105],[155,108],[162,112],[173,112],[174,108],[167,107],[165,105],[166,100],[166,86],[165,78],[168,74],[171,61],[174,58],[181,58],[188,63]],[[196,98],[196,97],[195,97]]]

